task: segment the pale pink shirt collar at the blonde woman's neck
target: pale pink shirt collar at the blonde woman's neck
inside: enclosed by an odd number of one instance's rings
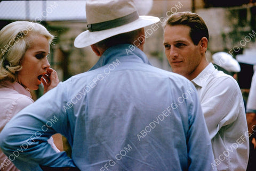
[[[31,94],[29,89],[25,89],[23,86],[21,86],[21,84],[19,84],[18,82],[14,81],[14,82],[10,82],[10,81],[2,81],[0,83],[1,87],[7,87],[9,89],[13,89],[15,91],[17,91],[18,93],[28,96],[31,98]]]

